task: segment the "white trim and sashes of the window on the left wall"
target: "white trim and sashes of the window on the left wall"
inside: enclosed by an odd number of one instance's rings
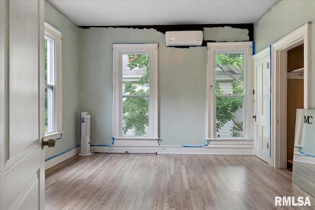
[[[45,84],[46,89],[52,91],[50,106],[51,129],[45,132],[45,138],[56,139],[61,137],[62,129],[62,32],[48,23],[44,23],[45,39],[51,43],[47,64],[49,65],[50,82]]]

